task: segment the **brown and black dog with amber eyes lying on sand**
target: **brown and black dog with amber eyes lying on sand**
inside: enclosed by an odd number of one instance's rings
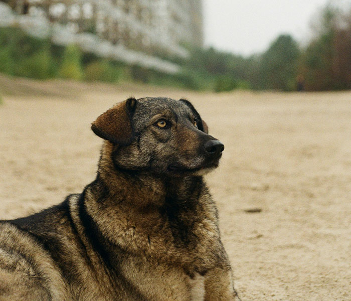
[[[224,145],[194,106],[131,97],[91,129],[96,179],[0,222],[0,300],[239,300],[203,179]]]

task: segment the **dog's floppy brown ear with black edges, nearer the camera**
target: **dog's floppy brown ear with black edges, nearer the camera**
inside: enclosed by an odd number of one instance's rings
[[[128,145],[134,138],[132,115],[135,107],[134,97],[119,102],[97,117],[91,124],[91,129],[103,139],[119,145]]]

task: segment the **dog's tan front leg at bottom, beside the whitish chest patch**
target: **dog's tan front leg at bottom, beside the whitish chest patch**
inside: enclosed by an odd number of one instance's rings
[[[232,270],[228,263],[215,267],[205,274],[204,301],[237,301],[240,300],[234,289]]]

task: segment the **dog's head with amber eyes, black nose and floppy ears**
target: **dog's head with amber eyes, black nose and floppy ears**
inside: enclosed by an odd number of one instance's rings
[[[120,170],[203,175],[218,166],[224,149],[185,99],[129,98],[101,114],[91,128],[113,144],[111,159]]]

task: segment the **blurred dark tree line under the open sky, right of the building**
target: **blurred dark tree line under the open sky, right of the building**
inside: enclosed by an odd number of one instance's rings
[[[193,49],[191,54],[187,67],[216,91],[351,89],[351,10],[324,8],[305,46],[291,35],[280,35],[264,53],[251,57],[213,48]]]

